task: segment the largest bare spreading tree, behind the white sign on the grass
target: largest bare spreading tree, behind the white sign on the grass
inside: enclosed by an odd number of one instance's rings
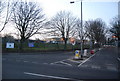
[[[43,28],[45,16],[42,8],[34,2],[15,2],[13,22],[20,34],[20,49],[22,50],[23,43]]]

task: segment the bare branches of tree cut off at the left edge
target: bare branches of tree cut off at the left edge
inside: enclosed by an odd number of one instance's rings
[[[0,1],[0,32],[2,32],[11,17],[12,2]]]

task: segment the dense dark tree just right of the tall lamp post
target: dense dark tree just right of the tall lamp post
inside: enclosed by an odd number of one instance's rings
[[[102,19],[90,20],[86,21],[85,29],[87,31],[89,39],[94,43],[97,42],[99,44],[105,43],[106,40],[106,25]]]

